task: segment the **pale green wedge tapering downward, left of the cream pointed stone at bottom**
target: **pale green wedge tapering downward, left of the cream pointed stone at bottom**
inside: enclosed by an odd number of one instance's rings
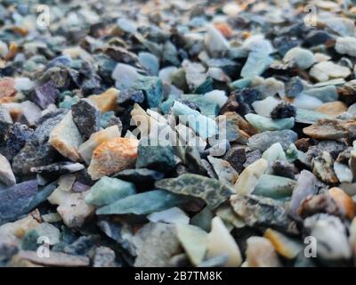
[[[207,233],[194,225],[177,224],[177,237],[191,263],[200,264],[206,254]]]

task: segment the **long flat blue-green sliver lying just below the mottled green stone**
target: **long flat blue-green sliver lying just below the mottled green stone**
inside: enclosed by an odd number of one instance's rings
[[[116,202],[98,208],[97,215],[119,215],[119,214],[134,214],[148,215],[154,212],[163,211],[167,208],[182,205],[188,202],[184,196],[176,195],[169,191],[154,190],[127,196],[124,199],[119,199]]]

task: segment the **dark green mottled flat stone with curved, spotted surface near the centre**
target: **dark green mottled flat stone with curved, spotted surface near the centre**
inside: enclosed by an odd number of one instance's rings
[[[216,179],[202,175],[183,174],[177,178],[158,181],[156,187],[177,194],[198,197],[206,201],[210,208],[218,207],[233,193],[233,189]]]

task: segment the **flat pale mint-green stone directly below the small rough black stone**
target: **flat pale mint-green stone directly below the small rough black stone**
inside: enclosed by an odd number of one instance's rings
[[[295,126],[295,118],[266,118],[256,114],[247,114],[245,116],[248,123],[255,126],[261,132],[264,131],[281,131],[291,129]]]

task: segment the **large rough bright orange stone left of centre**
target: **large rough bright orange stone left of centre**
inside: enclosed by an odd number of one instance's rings
[[[126,168],[134,167],[138,145],[138,140],[123,137],[102,142],[93,151],[88,174],[93,180],[97,180],[102,176],[113,175]]]

